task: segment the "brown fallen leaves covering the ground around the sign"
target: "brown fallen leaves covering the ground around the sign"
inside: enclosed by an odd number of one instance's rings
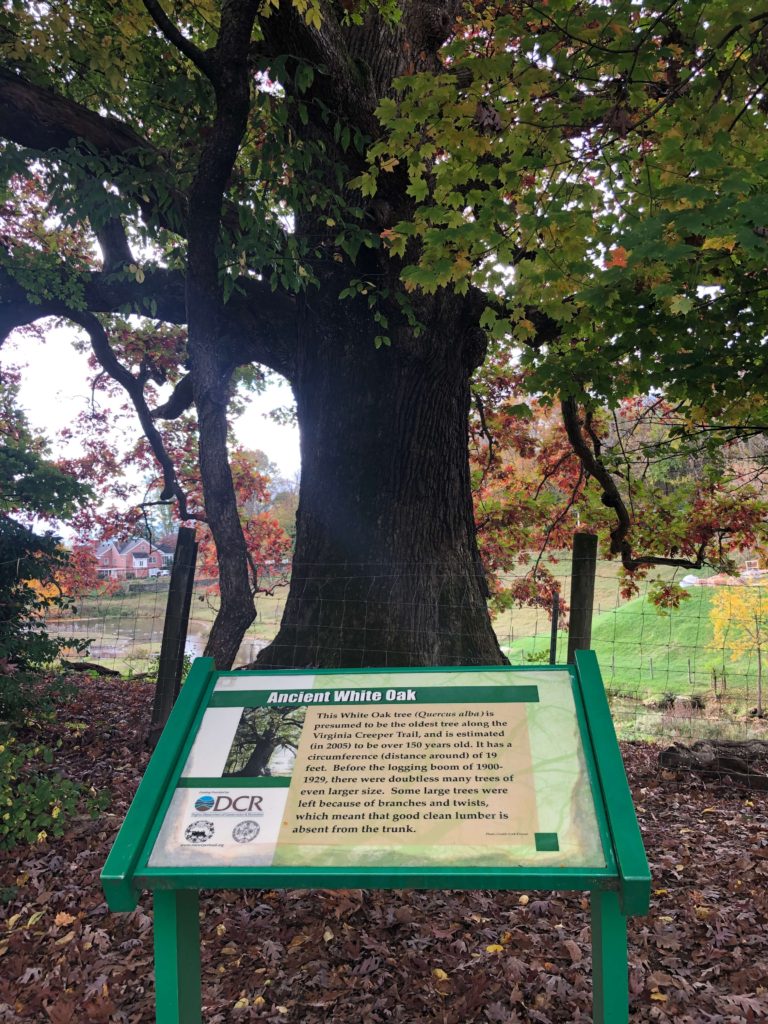
[[[146,764],[152,687],[85,680],[45,729],[55,768],[112,793],[97,820],[0,860],[0,1020],[152,1024],[152,901],[111,913],[98,872]],[[766,802],[624,748],[653,874],[630,923],[631,1020],[768,1019]],[[206,1024],[587,1024],[583,893],[287,890],[202,898]]]

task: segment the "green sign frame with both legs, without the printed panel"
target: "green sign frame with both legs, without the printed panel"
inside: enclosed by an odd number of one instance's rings
[[[324,674],[359,677],[385,673],[428,676],[440,673],[519,673],[532,667],[379,669],[356,671],[286,670],[271,677]],[[198,658],[160,737],[155,754],[101,872],[112,910],[132,910],[142,890],[155,902],[155,968],[158,1024],[200,1024],[200,889],[369,888],[369,889],[551,889],[590,893],[595,1024],[628,1024],[627,920],[648,911],[650,871],[618,750],[600,670],[593,651],[577,651],[575,666],[539,667],[537,673],[568,672],[580,738],[589,774],[602,867],[381,867],[338,866],[173,866],[148,865],[155,841],[181,780],[203,715],[218,680],[243,673],[217,673],[210,658]],[[255,674],[256,675],[256,674]],[[258,674],[261,675],[261,674]],[[219,705],[234,702],[220,693]],[[222,699],[223,698],[223,699]],[[243,702],[242,700],[240,701]],[[203,781],[203,780],[200,780]]]

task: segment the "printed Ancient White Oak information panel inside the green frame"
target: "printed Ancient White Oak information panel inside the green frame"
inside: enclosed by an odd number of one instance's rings
[[[606,865],[567,671],[219,676],[148,859]]]

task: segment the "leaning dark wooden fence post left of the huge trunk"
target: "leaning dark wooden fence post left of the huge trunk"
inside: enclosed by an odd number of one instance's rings
[[[171,566],[171,585],[168,588],[163,642],[158,664],[158,683],[155,688],[155,702],[147,742],[155,748],[168,721],[174,701],[181,687],[181,673],[184,668],[184,645],[186,628],[189,623],[189,606],[195,586],[195,561],[198,544],[195,529],[181,526],[176,541],[176,553]]]

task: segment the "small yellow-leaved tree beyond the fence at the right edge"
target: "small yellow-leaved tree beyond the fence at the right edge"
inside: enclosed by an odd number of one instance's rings
[[[728,650],[732,660],[753,651],[758,658],[758,708],[763,716],[763,658],[768,653],[768,587],[755,583],[719,587],[710,612],[712,647]]]

